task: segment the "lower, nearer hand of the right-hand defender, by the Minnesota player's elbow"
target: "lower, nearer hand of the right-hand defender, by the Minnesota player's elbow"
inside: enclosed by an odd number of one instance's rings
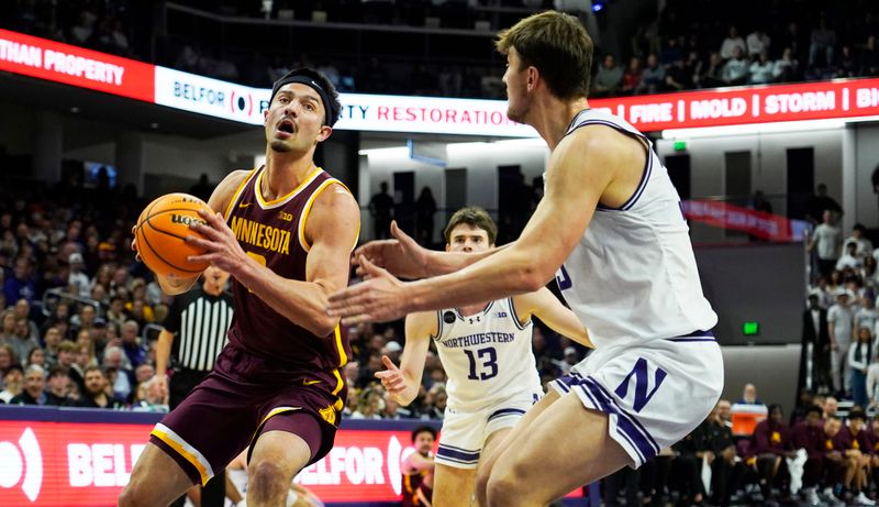
[[[326,313],[342,317],[345,326],[360,322],[383,322],[407,315],[407,284],[387,271],[360,257],[366,280],[331,294]]]

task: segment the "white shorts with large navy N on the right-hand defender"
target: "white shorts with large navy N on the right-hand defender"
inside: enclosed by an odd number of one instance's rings
[[[550,384],[610,416],[610,436],[634,469],[679,441],[714,408],[723,357],[710,332],[596,350]]]

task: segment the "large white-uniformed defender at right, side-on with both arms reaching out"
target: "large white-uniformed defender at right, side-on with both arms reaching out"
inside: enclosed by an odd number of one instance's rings
[[[589,108],[586,30],[548,11],[502,32],[497,46],[508,115],[552,151],[544,198],[521,236],[457,255],[418,249],[392,228],[398,240],[360,249],[369,279],[331,295],[327,311],[347,323],[388,320],[536,290],[558,273],[596,351],[482,456],[477,476],[481,506],[545,506],[692,431],[720,397],[723,361],[666,168],[632,125]],[[379,266],[433,277],[401,283]]]

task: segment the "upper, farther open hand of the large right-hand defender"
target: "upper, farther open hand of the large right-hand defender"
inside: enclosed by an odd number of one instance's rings
[[[368,276],[360,264],[360,257],[388,269],[394,276],[403,278],[423,278],[427,273],[429,251],[415,242],[409,234],[391,222],[393,240],[370,241],[354,251],[352,264],[357,266],[358,276]]]

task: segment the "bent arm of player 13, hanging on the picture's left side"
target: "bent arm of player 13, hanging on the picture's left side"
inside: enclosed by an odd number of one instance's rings
[[[435,311],[407,316],[405,344],[400,356],[400,367],[387,355],[381,356],[387,370],[376,372],[376,378],[381,381],[385,389],[402,406],[411,404],[419,395],[427,348],[431,337],[437,332],[437,326]]]

